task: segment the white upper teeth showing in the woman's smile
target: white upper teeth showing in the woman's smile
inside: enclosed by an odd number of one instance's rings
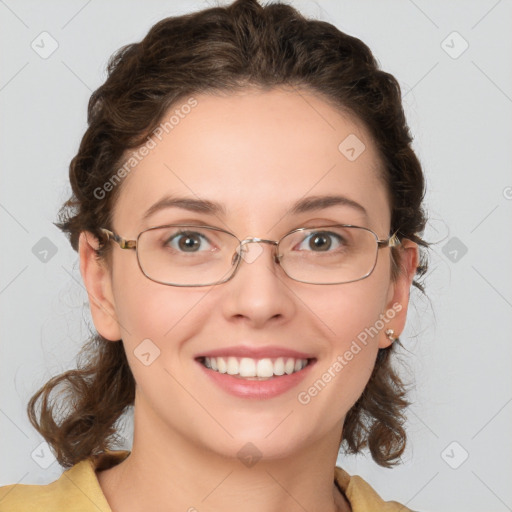
[[[204,365],[219,373],[240,375],[240,377],[272,377],[290,375],[302,370],[308,364],[307,359],[292,357],[277,359],[251,359],[250,357],[205,357]]]

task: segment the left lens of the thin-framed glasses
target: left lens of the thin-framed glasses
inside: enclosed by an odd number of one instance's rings
[[[238,247],[237,238],[224,231],[176,225],[142,232],[137,255],[142,271],[154,281],[206,286],[231,274]]]

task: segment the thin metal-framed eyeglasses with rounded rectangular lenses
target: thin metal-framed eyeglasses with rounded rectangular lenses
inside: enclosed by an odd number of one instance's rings
[[[136,251],[139,267],[148,279],[169,286],[210,286],[229,281],[242,259],[252,262],[247,244],[253,242],[272,244],[274,261],[295,281],[350,283],[373,272],[379,249],[400,245],[396,232],[379,240],[370,229],[349,224],[298,228],[279,241],[239,240],[229,231],[195,224],[148,228],[136,240],[100,230],[121,249]]]

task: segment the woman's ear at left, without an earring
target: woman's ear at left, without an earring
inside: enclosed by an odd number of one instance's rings
[[[97,238],[82,231],[78,241],[80,273],[87,289],[91,315],[96,330],[107,340],[121,339],[121,329],[116,316],[110,270],[96,254]]]

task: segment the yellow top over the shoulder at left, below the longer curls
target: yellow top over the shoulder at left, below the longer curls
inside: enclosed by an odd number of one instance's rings
[[[128,454],[119,450],[90,457],[47,485],[0,487],[0,512],[111,512],[95,470],[112,462],[121,462]]]

